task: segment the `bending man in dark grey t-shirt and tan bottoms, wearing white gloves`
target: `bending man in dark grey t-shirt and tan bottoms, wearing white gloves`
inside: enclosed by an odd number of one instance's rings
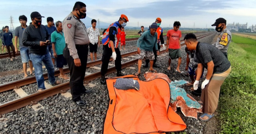
[[[218,106],[220,87],[231,71],[230,62],[225,55],[215,46],[197,41],[193,33],[188,33],[184,37],[184,42],[189,51],[196,50],[198,60],[197,77],[194,82],[194,90],[197,90],[203,67],[207,69],[205,81],[202,83],[201,102],[203,112],[200,119],[207,121],[214,116]]]

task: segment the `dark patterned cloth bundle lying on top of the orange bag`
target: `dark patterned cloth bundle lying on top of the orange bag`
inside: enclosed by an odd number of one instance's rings
[[[132,78],[118,78],[114,87],[121,90],[135,89],[139,91],[139,82]]]

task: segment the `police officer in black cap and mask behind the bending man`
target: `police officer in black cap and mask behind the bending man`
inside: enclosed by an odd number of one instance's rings
[[[212,45],[217,47],[227,58],[227,49],[232,37],[231,32],[226,27],[226,23],[225,19],[219,18],[212,24],[212,26],[216,26],[215,30],[219,34],[217,42]]]

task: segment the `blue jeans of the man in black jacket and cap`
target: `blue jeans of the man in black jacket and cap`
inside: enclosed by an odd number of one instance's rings
[[[45,89],[42,61],[44,62],[48,72],[49,84],[53,85],[55,83],[54,66],[51,61],[50,54],[46,53],[45,55],[36,55],[34,53],[30,53],[29,56],[35,68],[35,78],[38,89]]]

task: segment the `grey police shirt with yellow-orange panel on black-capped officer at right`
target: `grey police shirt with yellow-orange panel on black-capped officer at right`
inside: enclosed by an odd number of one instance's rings
[[[231,38],[231,32],[226,28],[219,33],[217,42],[213,43],[212,45],[217,47],[221,52],[227,52]]]

